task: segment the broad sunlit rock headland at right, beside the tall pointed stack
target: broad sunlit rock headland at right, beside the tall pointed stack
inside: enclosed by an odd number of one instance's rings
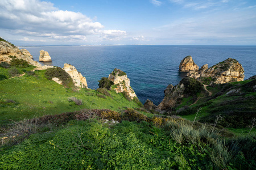
[[[239,82],[245,77],[242,65],[233,58],[228,58],[209,69],[206,68],[201,68],[198,71],[189,71],[187,76],[198,79],[204,84]]]

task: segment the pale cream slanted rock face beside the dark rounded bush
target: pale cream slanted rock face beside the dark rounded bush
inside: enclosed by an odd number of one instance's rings
[[[84,76],[76,70],[76,67],[65,63],[63,69],[71,76],[75,86],[81,87],[81,88],[88,88],[87,82]]]

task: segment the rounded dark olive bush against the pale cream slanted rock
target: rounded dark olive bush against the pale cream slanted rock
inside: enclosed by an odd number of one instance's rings
[[[46,73],[44,73],[47,79],[51,80],[52,78],[56,77],[59,78],[63,84],[63,86],[66,87],[73,87],[74,83],[71,78],[71,76],[60,67],[53,67],[46,70]]]

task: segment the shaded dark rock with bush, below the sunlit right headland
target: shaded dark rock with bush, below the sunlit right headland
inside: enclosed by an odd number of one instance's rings
[[[203,84],[194,78],[185,77],[176,86],[168,85],[166,90],[164,90],[164,99],[157,108],[169,110],[177,107],[184,97],[189,96],[192,96],[192,102],[196,101],[196,94],[199,92],[204,92]]]

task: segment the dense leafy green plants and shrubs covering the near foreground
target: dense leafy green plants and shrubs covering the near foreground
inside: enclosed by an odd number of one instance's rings
[[[20,145],[1,148],[0,167],[253,169],[256,166],[255,134],[225,139],[218,129],[207,125],[192,124],[179,117],[170,117],[159,125],[154,117],[142,116],[133,109],[119,113],[118,120],[122,121],[119,124],[102,121],[104,116],[113,115],[118,113],[87,109],[27,120],[35,125],[34,128],[30,125],[30,136]],[[46,122],[48,129],[42,131],[41,126]]]

